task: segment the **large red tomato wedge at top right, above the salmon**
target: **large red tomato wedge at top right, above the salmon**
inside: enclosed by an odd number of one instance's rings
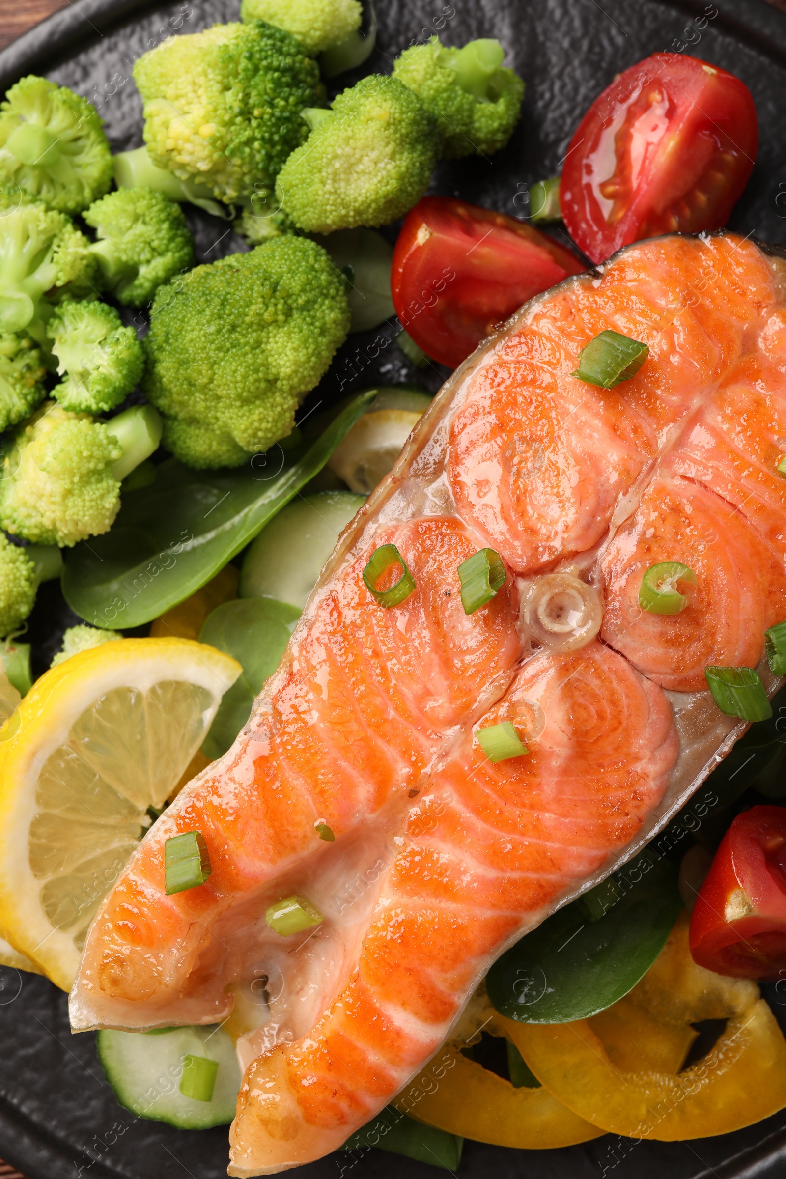
[[[560,183],[564,223],[593,262],[659,233],[720,229],[759,145],[753,97],[719,66],[655,53],[596,98]]]

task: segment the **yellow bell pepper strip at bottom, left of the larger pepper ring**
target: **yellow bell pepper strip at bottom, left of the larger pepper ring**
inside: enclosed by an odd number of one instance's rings
[[[514,1088],[510,1081],[462,1055],[463,1047],[480,1039],[478,1027],[491,1035],[508,1035],[503,1025],[509,1022],[482,995],[475,1006],[473,1032],[462,1036],[462,1025],[457,1036],[399,1094],[396,1108],[450,1134],[526,1151],[599,1138],[602,1129],[577,1117],[548,1089]]]

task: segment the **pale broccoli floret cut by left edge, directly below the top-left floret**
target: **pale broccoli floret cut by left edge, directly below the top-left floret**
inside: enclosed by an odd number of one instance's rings
[[[51,303],[95,294],[95,271],[90,242],[65,213],[40,202],[4,213],[0,216],[0,331],[27,329],[41,343],[46,338],[41,321],[51,316]]]

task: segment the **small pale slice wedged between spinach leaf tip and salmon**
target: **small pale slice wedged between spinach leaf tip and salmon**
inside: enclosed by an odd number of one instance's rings
[[[414,429],[430,397],[409,389],[382,389],[371,408],[355,422],[336,447],[328,468],[344,480],[352,492],[370,495],[392,469],[401,448]]]

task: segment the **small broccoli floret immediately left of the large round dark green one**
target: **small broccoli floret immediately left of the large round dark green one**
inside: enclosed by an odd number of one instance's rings
[[[145,354],[137,332],[106,303],[62,303],[46,331],[58,373],[67,374],[52,393],[64,409],[74,414],[114,409],[141,377]]]

